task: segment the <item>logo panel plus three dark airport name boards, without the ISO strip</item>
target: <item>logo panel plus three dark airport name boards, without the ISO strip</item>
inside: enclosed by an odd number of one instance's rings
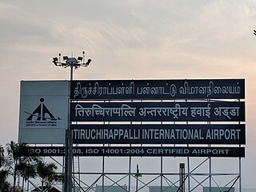
[[[244,79],[22,81],[18,141],[242,145],[244,98]]]

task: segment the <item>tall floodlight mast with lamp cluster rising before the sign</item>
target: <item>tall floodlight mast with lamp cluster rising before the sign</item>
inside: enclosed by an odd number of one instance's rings
[[[62,66],[64,68],[70,67],[70,82],[73,81],[73,72],[80,66],[89,66],[91,59],[89,58],[85,62],[85,52],[82,51],[82,57],[69,58],[63,56],[63,62],[61,62],[61,54],[58,54],[58,58],[53,58],[55,66]],[[70,102],[70,101],[69,101]],[[69,107],[70,110],[70,107]],[[72,162],[73,162],[73,132],[70,130],[70,112],[68,119],[69,127],[66,130],[65,136],[65,178],[64,178],[64,192],[72,191]]]

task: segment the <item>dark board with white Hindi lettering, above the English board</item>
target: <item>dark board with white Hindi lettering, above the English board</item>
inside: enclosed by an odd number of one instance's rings
[[[71,102],[71,122],[244,122],[245,102]]]

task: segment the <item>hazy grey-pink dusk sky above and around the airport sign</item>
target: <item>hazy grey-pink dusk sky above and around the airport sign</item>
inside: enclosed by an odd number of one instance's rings
[[[22,80],[245,78],[242,186],[256,187],[254,0],[0,0],[0,144],[18,141]]]

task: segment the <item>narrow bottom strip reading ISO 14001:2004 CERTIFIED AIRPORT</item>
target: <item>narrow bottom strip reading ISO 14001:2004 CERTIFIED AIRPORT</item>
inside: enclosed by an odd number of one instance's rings
[[[31,156],[64,156],[63,146],[30,146]],[[218,157],[243,158],[244,147],[74,146],[74,156],[86,157]]]

